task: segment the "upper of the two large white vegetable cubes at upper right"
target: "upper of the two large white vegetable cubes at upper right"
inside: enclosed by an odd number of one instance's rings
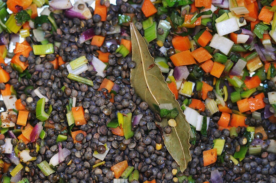
[[[219,36],[224,36],[226,34],[232,33],[240,29],[236,18],[229,18],[215,24],[217,28],[217,33]]]

